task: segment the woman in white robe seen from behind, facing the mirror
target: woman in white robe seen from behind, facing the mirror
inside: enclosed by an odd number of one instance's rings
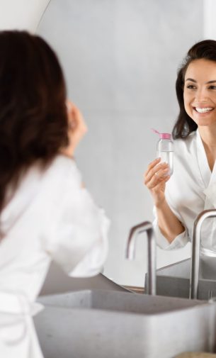
[[[108,219],[73,160],[86,125],[55,53],[38,36],[4,31],[0,54],[0,356],[41,358],[31,316],[50,262],[97,274]]]

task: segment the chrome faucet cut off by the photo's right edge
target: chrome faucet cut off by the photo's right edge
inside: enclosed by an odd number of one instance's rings
[[[215,218],[216,209],[202,211],[195,219],[193,225],[192,254],[191,254],[191,281],[190,298],[198,298],[199,268],[200,268],[200,236],[203,221],[207,218]]]

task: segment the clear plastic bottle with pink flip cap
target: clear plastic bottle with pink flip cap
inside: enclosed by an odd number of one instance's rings
[[[159,133],[159,141],[157,142],[157,157],[161,158],[161,163],[169,164],[169,175],[174,172],[174,142],[171,140],[170,133]]]

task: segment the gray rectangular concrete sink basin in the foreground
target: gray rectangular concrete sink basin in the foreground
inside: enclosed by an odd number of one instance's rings
[[[45,358],[172,358],[212,352],[215,303],[108,290],[41,296]]]

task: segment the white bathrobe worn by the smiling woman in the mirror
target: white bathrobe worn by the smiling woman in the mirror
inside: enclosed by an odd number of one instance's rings
[[[154,230],[161,248],[178,249],[191,241],[193,223],[198,214],[216,208],[216,164],[210,171],[199,130],[185,140],[174,140],[174,174],[166,183],[166,200],[186,230],[171,244],[161,235],[154,208]],[[216,254],[216,218],[205,220],[201,230],[202,250]]]

